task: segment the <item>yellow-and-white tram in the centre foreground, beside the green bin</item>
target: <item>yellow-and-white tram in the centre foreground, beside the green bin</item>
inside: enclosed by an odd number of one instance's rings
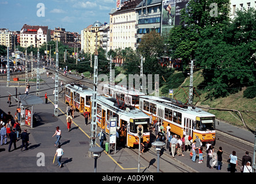
[[[127,147],[139,144],[137,135],[138,125],[144,128],[143,142],[149,143],[149,116],[140,109],[130,106],[111,97],[97,97],[97,125],[106,133],[110,133],[110,118],[117,117],[117,124],[121,128],[119,139],[123,139]],[[121,140],[122,141],[122,140]],[[141,140],[142,141],[142,140]]]

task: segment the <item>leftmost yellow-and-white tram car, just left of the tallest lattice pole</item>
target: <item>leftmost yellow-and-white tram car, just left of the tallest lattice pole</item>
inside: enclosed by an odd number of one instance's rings
[[[73,106],[80,113],[85,109],[91,113],[91,97],[93,90],[80,83],[70,83],[65,85],[65,103]]]

